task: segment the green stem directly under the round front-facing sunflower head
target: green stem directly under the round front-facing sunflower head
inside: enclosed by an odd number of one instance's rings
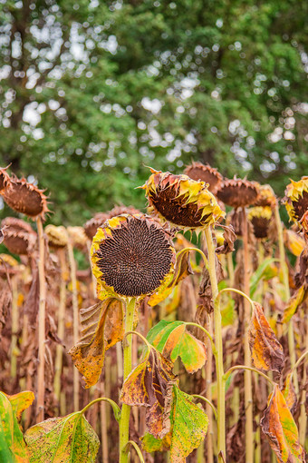
[[[133,330],[136,299],[132,298],[126,305],[125,333]],[[131,371],[131,333],[124,337],[123,341],[123,381]],[[130,427],[130,406],[125,403],[120,411],[120,458],[119,463],[129,462],[128,442]]]

